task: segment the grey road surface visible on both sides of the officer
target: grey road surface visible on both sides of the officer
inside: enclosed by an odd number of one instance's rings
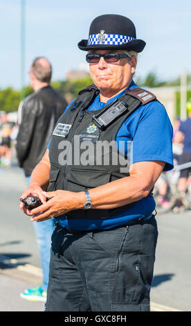
[[[17,166],[0,168],[0,311],[43,311],[43,302],[19,298],[40,284],[42,271],[33,223],[19,209],[26,188]],[[152,311],[191,311],[191,214],[164,214],[158,221],[158,245],[152,282]]]

